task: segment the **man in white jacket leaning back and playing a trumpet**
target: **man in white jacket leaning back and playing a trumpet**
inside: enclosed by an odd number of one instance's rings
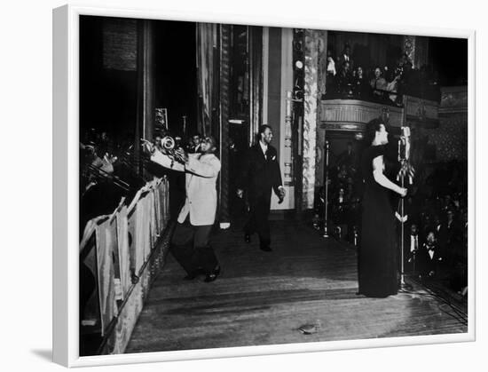
[[[197,154],[186,154],[183,149],[178,149],[178,160],[153,146],[148,145],[148,149],[151,161],[171,170],[185,172],[186,199],[171,239],[173,256],[185,269],[186,280],[205,273],[205,281],[215,281],[220,266],[209,245],[209,236],[216,219],[216,178],[220,171],[220,161],[214,154],[215,139],[203,139],[200,153]]]

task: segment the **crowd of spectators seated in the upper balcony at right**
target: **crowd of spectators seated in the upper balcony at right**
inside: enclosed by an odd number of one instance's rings
[[[335,57],[327,50],[326,94],[322,99],[362,99],[402,106],[404,94],[439,100],[438,76],[432,67],[413,68],[404,53],[392,66],[356,66],[349,44]]]

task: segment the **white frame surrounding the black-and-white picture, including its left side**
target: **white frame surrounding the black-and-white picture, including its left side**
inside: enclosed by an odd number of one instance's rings
[[[315,28],[349,32],[457,37],[468,39],[468,332],[453,335],[405,336],[303,344],[273,344],[175,352],[145,352],[79,357],[78,312],[78,177],[79,177],[79,16],[151,20],[182,20],[280,28]],[[53,360],[67,367],[101,366],[169,360],[196,360],[292,352],[322,352],[413,344],[459,343],[476,340],[475,247],[475,48],[474,30],[419,28],[239,15],[223,12],[175,12],[68,4],[53,10]]]

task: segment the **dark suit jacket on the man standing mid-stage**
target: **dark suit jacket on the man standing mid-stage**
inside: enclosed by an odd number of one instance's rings
[[[268,145],[267,158],[259,143],[248,149],[242,162],[238,186],[248,192],[249,202],[256,197],[271,194],[273,189],[279,195],[282,186],[276,148]]]

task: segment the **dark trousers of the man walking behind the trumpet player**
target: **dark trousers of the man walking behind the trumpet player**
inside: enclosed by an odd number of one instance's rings
[[[268,222],[271,201],[271,192],[249,198],[249,218],[244,226],[244,232],[249,235],[257,233],[262,246],[269,246],[271,243],[270,223]]]

